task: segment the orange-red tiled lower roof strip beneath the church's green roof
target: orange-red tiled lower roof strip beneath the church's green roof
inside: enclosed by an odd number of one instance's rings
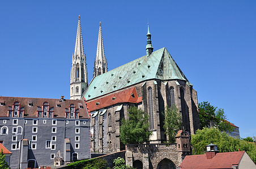
[[[90,112],[105,108],[117,103],[140,103],[142,97],[138,97],[135,87],[116,92],[115,94],[101,97],[100,99],[86,102]]]

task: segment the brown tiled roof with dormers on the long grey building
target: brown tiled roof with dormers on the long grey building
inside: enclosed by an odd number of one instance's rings
[[[84,100],[61,100],[61,99],[42,99],[30,97],[3,97],[0,96],[0,117],[7,117],[8,110],[13,109],[15,101],[19,102],[20,109],[24,110],[25,117],[37,117],[37,110],[42,109],[42,105],[47,102],[49,108],[53,108],[54,118],[65,118],[65,111],[74,104],[75,110],[78,109],[80,118],[89,118]],[[3,103],[3,105],[2,105]],[[32,104],[29,106],[29,104]],[[79,108],[82,105],[83,108]]]

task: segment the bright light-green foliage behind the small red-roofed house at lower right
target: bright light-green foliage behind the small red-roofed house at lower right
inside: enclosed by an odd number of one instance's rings
[[[212,141],[213,144],[218,146],[220,153],[245,150],[254,163],[256,162],[256,145],[254,143],[233,138],[221,132],[218,128],[204,127],[202,130],[197,130],[196,134],[191,137],[193,154],[204,154],[206,152],[206,145]]]

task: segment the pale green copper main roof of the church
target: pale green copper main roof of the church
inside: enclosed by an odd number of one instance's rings
[[[163,47],[152,52],[148,57],[146,55],[139,57],[130,63],[96,76],[83,96],[86,100],[90,100],[149,79],[187,81],[172,56]]]

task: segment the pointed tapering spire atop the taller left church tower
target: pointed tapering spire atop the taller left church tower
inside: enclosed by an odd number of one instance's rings
[[[76,32],[74,56],[78,56],[78,57],[83,57],[84,56],[84,47],[83,47],[83,38],[82,38],[82,29],[81,29],[81,23],[80,23],[80,15],[78,16],[78,30]]]

